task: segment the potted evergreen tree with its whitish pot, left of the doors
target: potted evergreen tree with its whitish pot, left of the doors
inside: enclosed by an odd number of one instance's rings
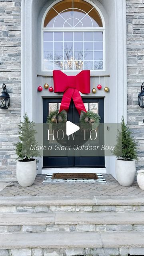
[[[31,146],[32,148],[34,145],[37,146],[34,122],[30,122],[27,114],[25,114],[24,122],[21,122],[18,126],[20,141],[14,144],[17,159],[19,159],[16,165],[16,176],[20,186],[28,187],[34,183],[36,178],[36,160],[34,157],[38,157],[40,154],[37,150],[31,149]]]

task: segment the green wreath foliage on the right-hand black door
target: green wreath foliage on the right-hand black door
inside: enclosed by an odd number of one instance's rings
[[[84,112],[82,117],[80,118],[81,124],[91,124],[94,123],[97,127],[100,124],[100,116],[92,111]],[[91,120],[94,120],[94,122],[91,122]]]

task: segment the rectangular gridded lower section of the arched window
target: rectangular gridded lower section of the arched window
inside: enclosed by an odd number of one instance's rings
[[[44,32],[44,70],[102,70],[102,39],[102,32]]]

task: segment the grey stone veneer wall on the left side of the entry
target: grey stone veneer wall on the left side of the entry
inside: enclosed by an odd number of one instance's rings
[[[0,92],[5,83],[10,94],[10,107],[0,110],[0,180],[16,177],[13,143],[21,120],[20,6],[21,0],[0,0]]]

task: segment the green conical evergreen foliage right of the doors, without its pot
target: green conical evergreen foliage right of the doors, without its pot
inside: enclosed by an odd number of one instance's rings
[[[129,130],[129,127],[127,124],[125,124],[123,116],[121,130],[118,131],[116,146],[113,150],[113,154],[120,160],[137,160],[136,142],[132,137],[132,132]]]

